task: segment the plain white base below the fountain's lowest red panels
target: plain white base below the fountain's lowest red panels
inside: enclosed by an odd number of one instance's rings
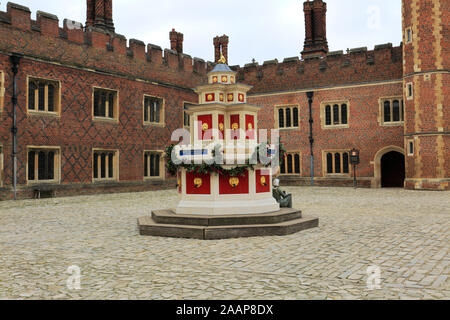
[[[182,200],[177,214],[189,215],[242,215],[277,212],[280,205],[273,197],[257,200],[189,201]]]

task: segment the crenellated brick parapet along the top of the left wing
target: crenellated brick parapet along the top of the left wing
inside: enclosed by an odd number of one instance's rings
[[[57,16],[38,11],[31,19],[28,7],[8,2],[0,11],[0,50],[17,51],[25,57],[67,64],[192,88],[205,82],[213,64],[170,49],[145,44],[136,39],[96,27],[83,27]]]

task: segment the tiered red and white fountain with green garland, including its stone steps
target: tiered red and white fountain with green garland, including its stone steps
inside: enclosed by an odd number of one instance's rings
[[[180,201],[138,221],[141,235],[224,239],[285,235],[317,227],[295,209],[280,209],[272,195],[276,145],[258,144],[258,111],[247,103],[251,86],[236,83],[222,57],[195,89],[189,138],[171,150]],[[189,140],[189,143],[186,142]]]

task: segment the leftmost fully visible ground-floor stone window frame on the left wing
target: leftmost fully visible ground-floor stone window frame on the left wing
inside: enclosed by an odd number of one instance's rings
[[[26,179],[27,179],[27,185],[42,185],[42,184],[61,184],[61,147],[59,146],[27,146],[27,162],[26,162]],[[35,160],[34,160],[34,180],[29,180],[28,172],[29,172],[29,153],[30,151],[35,151]],[[39,152],[41,151],[53,151],[55,152],[55,159],[53,164],[53,179],[52,180],[39,180]],[[37,179],[36,179],[37,178]]]

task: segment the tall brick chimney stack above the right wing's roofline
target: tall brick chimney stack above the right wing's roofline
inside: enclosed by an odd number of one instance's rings
[[[303,4],[305,13],[305,44],[303,59],[311,56],[325,56],[327,42],[327,4],[322,0],[309,0]]]

